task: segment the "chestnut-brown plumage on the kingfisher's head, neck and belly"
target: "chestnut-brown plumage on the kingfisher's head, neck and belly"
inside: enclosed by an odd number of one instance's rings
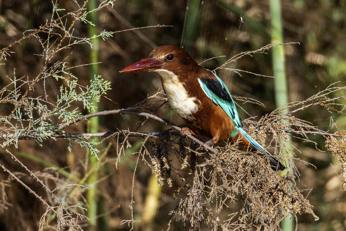
[[[235,129],[234,123],[220,106],[216,106],[215,103],[201,91],[198,82],[198,78],[201,76],[216,80],[215,76],[207,69],[199,66],[191,58],[189,53],[180,47],[160,46],[155,48],[150,53],[149,57],[163,60],[163,58],[169,54],[173,54],[176,60],[174,63],[166,63],[164,68],[173,72],[178,77],[189,97],[198,99],[195,100],[195,103],[199,106],[198,111],[192,114],[190,116],[191,118],[184,118],[182,116],[192,133],[215,139],[213,144],[219,141],[228,141],[231,131]],[[186,76],[186,73],[189,73],[189,78],[183,78]],[[164,83],[162,85],[165,86]],[[165,87],[163,87],[163,90],[165,92],[167,91]],[[169,102],[170,101],[169,99]],[[205,123],[206,121],[209,123]],[[244,143],[244,145],[248,144],[248,142],[247,144]]]

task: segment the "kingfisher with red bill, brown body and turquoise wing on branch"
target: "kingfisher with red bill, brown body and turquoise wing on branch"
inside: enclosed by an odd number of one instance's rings
[[[273,170],[285,166],[243,128],[234,100],[222,80],[212,71],[198,65],[183,48],[164,45],[155,48],[147,58],[120,70],[122,73],[154,71],[161,75],[163,90],[172,109],[187,124],[180,131],[208,137],[202,149],[220,142],[238,142],[239,146],[268,157]]]

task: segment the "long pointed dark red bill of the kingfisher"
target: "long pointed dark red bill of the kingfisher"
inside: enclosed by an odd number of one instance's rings
[[[119,72],[125,73],[138,73],[145,71],[154,71],[160,69],[164,62],[154,59],[153,57],[147,57],[146,59],[142,59],[132,65],[127,66]]]

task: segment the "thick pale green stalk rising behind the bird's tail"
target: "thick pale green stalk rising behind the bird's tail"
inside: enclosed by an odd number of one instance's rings
[[[280,0],[270,0],[270,13],[271,13],[271,35],[272,43],[283,43],[283,32],[281,22],[281,6]],[[274,86],[275,86],[275,101],[276,107],[281,107],[284,104],[289,103],[286,69],[285,69],[285,51],[283,46],[275,46],[272,48],[272,60],[274,69]],[[282,113],[288,113],[288,109],[283,110]],[[289,149],[291,139],[289,137],[288,143],[283,142],[287,149]],[[292,153],[288,153],[292,157]],[[286,165],[288,168],[289,166]],[[282,172],[285,175],[287,170]],[[281,222],[283,231],[293,230],[293,217],[290,215]]]

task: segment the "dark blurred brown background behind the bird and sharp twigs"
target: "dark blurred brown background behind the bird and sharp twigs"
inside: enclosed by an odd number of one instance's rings
[[[73,1],[58,1],[65,12],[76,10]],[[97,5],[100,2],[97,1]],[[188,7],[188,11],[186,11]],[[298,42],[284,46],[286,53],[286,74],[289,101],[300,101],[324,90],[331,83],[340,81],[337,86],[345,86],[346,80],[346,1],[345,0],[282,0],[283,42]],[[0,1],[0,46],[9,44],[22,37],[28,29],[38,28],[52,17],[52,2],[48,0],[2,0]],[[98,110],[127,108],[144,100],[148,95],[161,89],[161,80],[156,73],[124,74],[119,70],[140,59],[161,45],[183,46],[197,62],[224,55],[202,64],[213,70],[234,55],[257,50],[271,43],[270,7],[267,0],[117,0],[113,8],[104,7],[96,14],[97,32],[103,30],[117,32],[137,27],[166,25],[167,27],[149,27],[138,30],[128,30],[113,34],[112,37],[101,40],[97,44],[97,73],[103,79],[112,82],[112,90],[107,91],[107,98],[102,98]],[[168,27],[169,26],[169,27]],[[79,37],[88,36],[88,26],[78,22],[74,33]],[[3,61],[0,66],[0,89],[9,83],[6,76],[27,76],[34,78],[43,66],[42,46],[35,38],[27,39],[12,47],[14,54]],[[242,69],[262,75],[274,75],[271,50],[245,56],[229,67]],[[74,46],[72,49],[58,53],[54,59],[65,61],[70,66],[90,63],[90,46],[87,44]],[[81,85],[88,85],[90,66],[72,69]],[[240,76],[234,72],[218,70],[218,76],[226,83],[232,95],[251,97],[261,101],[265,107],[254,104],[241,106],[251,116],[261,116],[272,112],[276,106],[274,101],[273,78],[258,77],[250,73]],[[43,83],[42,83],[43,84]],[[52,95],[57,95],[61,82],[53,79],[45,83]],[[43,89],[43,88],[42,88]],[[43,95],[42,89],[36,87],[33,96]],[[345,95],[336,92],[333,97]],[[53,99],[54,100],[54,99]],[[83,108],[81,106],[80,108]],[[0,105],[0,113],[8,114],[13,108]],[[88,114],[82,110],[83,114]],[[249,116],[239,110],[242,118]],[[305,119],[321,130],[335,132],[345,130],[346,120],[343,115],[334,114],[330,126],[331,114],[319,106],[300,111],[296,117]],[[183,120],[165,109],[160,116],[180,125]],[[117,131],[127,129],[134,131],[143,118],[130,115],[109,115],[100,118],[97,127],[99,131]],[[88,123],[79,123],[66,132],[87,132]],[[164,131],[168,127],[155,121],[148,121],[140,128],[142,132]],[[311,135],[309,139],[317,143],[317,148],[326,151],[324,137]],[[103,165],[99,168],[97,181],[97,229],[99,230],[129,230],[122,220],[131,219],[129,205],[133,171],[136,164],[137,151],[143,139],[131,137],[132,148],[125,150],[125,155],[116,163],[116,138],[110,138],[100,146],[101,153],[110,144],[107,155],[103,157]],[[299,186],[306,189],[306,196],[314,206],[313,210],[319,221],[314,221],[311,215],[298,216],[298,230],[346,230],[346,194],[342,190],[342,180],[338,174],[341,171],[338,162],[328,152],[316,149],[314,143],[293,139],[294,146],[300,150],[297,158],[312,163],[304,165],[301,161],[295,164],[300,172]],[[74,182],[73,177],[84,176],[87,151],[76,145],[72,151],[67,149],[68,142],[63,139],[46,140],[40,146],[36,141],[26,140],[18,143],[18,148],[10,146],[12,153],[32,171],[42,174],[48,172],[67,182]],[[3,151],[0,152],[1,162],[12,172],[22,172],[21,167],[13,162]],[[173,157],[171,157],[173,158]],[[54,165],[55,167],[52,167]],[[63,176],[56,169],[63,169],[70,175]],[[173,189],[164,185],[157,189],[155,177],[151,169],[140,162],[134,178],[135,191],[133,195],[134,220],[145,219],[148,208],[148,197],[156,192],[154,204],[156,212],[147,223],[137,222],[135,230],[165,230],[170,220],[168,215],[176,206]],[[44,177],[44,176],[42,176]],[[0,174],[1,180],[8,179],[5,172]],[[45,195],[42,186],[36,184],[29,176],[22,176],[32,188],[37,187],[38,193]],[[179,179],[173,182],[181,185]],[[47,181],[48,182],[48,181]],[[154,183],[153,183],[154,182]],[[7,201],[10,203],[0,211],[1,230],[37,230],[40,216],[45,208],[38,200],[29,194],[15,181],[9,181],[6,188]],[[47,183],[50,184],[49,182]],[[51,184],[53,184],[51,182]],[[57,185],[57,183],[54,183]],[[41,188],[39,188],[41,187]],[[156,190],[156,191],[155,191]],[[83,194],[84,193],[84,194]],[[83,195],[79,199],[83,203]],[[236,206],[236,205],[235,205]],[[155,211],[155,209],[154,209]],[[13,224],[13,222],[16,224]],[[148,222],[151,223],[148,225]],[[85,224],[86,225],[86,224]],[[149,227],[149,228],[147,228]],[[175,228],[179,230],[179,224]],[[91,230],[91,229],[90,229]],[[94,230],[94,229],[93,229]]]

